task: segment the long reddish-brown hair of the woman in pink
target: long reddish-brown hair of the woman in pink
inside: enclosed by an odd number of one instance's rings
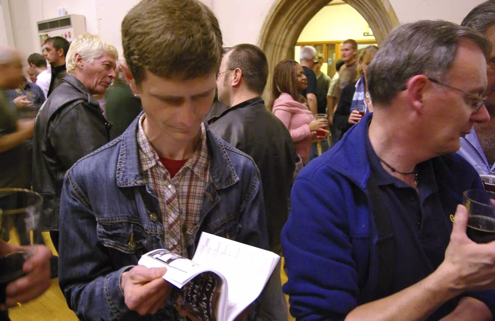
[[[270,110],[273,109],[273,103],[279,98],[280,94],[285,93],[291,95],[296,101],[300,101],[299,89],[297,87],[297,61],[286,59],[280,61],[273,71],[272,81],[272,102]]]

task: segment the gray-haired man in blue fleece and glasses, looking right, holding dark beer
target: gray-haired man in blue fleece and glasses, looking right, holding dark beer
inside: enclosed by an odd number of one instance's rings
[[[459,205],[483,187],[455,154],[473,123],[489,120],[481,94],[491,51],[446,21],[389,35],[368,68],[374,112],[294,183],[282,246],[298,321],[495,316],[495,242],[466,236]],[[379,239],[384,213],[391,233]]]

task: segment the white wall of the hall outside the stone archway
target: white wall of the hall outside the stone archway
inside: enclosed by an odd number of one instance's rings
[[[11,25],[14,38],[19,41],[15,46],[26,55],[40,50],[36,22],[56,17],[59,6],[65,7],[69,14],[86,16],[87,31],[110,41],[122,54],[120,23],[125,13],[139,0],[0,0],[0,3],[5,1],[13,4],[10,9]],[[202,1],[218,16],[225,46],[232,46],[238,43],[257,44],[265,18],[278,0]],[[483,0],[389,1],[400,22],[445,19],[459,23],[471,8]],[[28,29],[31,30],[30,35]]]

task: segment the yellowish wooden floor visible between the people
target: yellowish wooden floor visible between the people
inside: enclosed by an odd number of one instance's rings
[[[43,233],[45,243],[55,254],[55,249],[51,243],[48,233]],[[11,243],[18,243],[16,235],[11,235]],[[283,259],[282,259],[283,260]],[[282,262],[282,266],[283,262]],[[282,269],[281,273],[282,283],[287,282],[287,275]],[[286,299],[289,302],[289,297],[286,295]],[[289,303],[287,303],[289,306]],[[38,299],[29,303],[23,304],[19,308],[13,308],[9,310],[9,316],[12,321],[78,321],[76,315],[69,309],[67,302],[62,295],[62,291],[58,287],[58,280],[52,279],[51,286],[47,292],[45,292]],[[289,321],[295,321],[289,314]]]

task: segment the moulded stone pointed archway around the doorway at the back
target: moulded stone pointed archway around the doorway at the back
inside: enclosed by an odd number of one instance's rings
[[[329,2],[329,0],[276,0],[272,6],[261,29],[259,42],[270,66],[270,76],[263,95],[267,104],[270,99],[273,68],[281,60],[292,57],[293,47],[306,24]],[[368,22],[379,45],[389,32],[399,25],[389,0],[345,0],[345,2],[356,9]]]

